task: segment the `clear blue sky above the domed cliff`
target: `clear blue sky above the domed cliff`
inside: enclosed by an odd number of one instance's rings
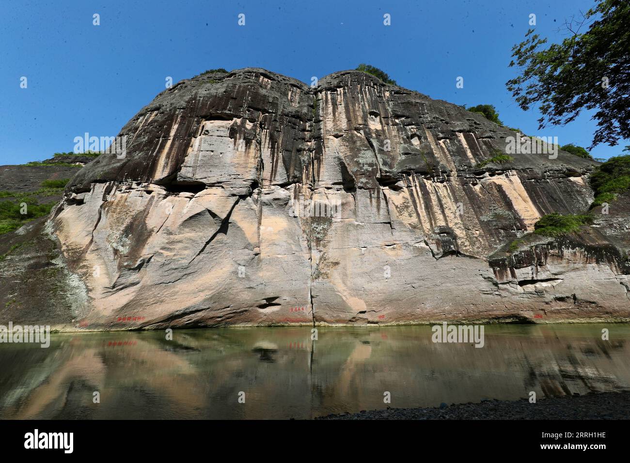
[[[0,164],[72,151],[73,139],[114,136],[173,82],[205,69],[264,67],[310,83],[365,62],[398,84],[459,105],[490,103],[527,134],[590,145],[582,115],[538,131],[505,89],[512,45],[529,14],[559,41],[565,18],[591,0],[7,1],[0,17]],[[93,14],[100,14],[100,26]],[[245,25],[238,25],[238,14]],[[383,15],[391,14],[391,26]],[[20,88],[26,76],[28,88]],[[457,76],[464,88],[455,88]],[[595,157],[621,153],[599,146]]]

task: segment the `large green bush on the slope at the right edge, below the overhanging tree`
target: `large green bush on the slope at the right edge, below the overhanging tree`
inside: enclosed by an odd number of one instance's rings
[[[630,190],[630,154],[611,157],[590,176],[595,190],[592,207],[616,200],[618,193]]]

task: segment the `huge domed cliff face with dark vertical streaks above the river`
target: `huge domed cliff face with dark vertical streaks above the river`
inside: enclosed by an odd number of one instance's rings
[[[565,152],[476,167],[513,135],[357,71],[182,81],[49,220],[88,295],[66,328],[627,319],[627,211],[602,216],[613,241],[507,251],[593,199],[594,163]]]

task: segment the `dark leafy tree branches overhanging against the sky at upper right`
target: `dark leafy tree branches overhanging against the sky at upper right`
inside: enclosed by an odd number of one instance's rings
[[[570,37],[562,43],[547,45],[530,29],[513,47],[510,67],[520,67],[520,74],[506,86],[523,110],[539,105],[539,129],[596,110],[590,148],[630,138],[629,24],[629,1],[597,0],[581,20],[565,21]]]

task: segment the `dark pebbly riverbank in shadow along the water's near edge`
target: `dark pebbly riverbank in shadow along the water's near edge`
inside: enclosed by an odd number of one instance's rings
[[[536,403],[490,400],[435,408],[386,408],[316,420],[630,420],[630,391],[552,397]]]

